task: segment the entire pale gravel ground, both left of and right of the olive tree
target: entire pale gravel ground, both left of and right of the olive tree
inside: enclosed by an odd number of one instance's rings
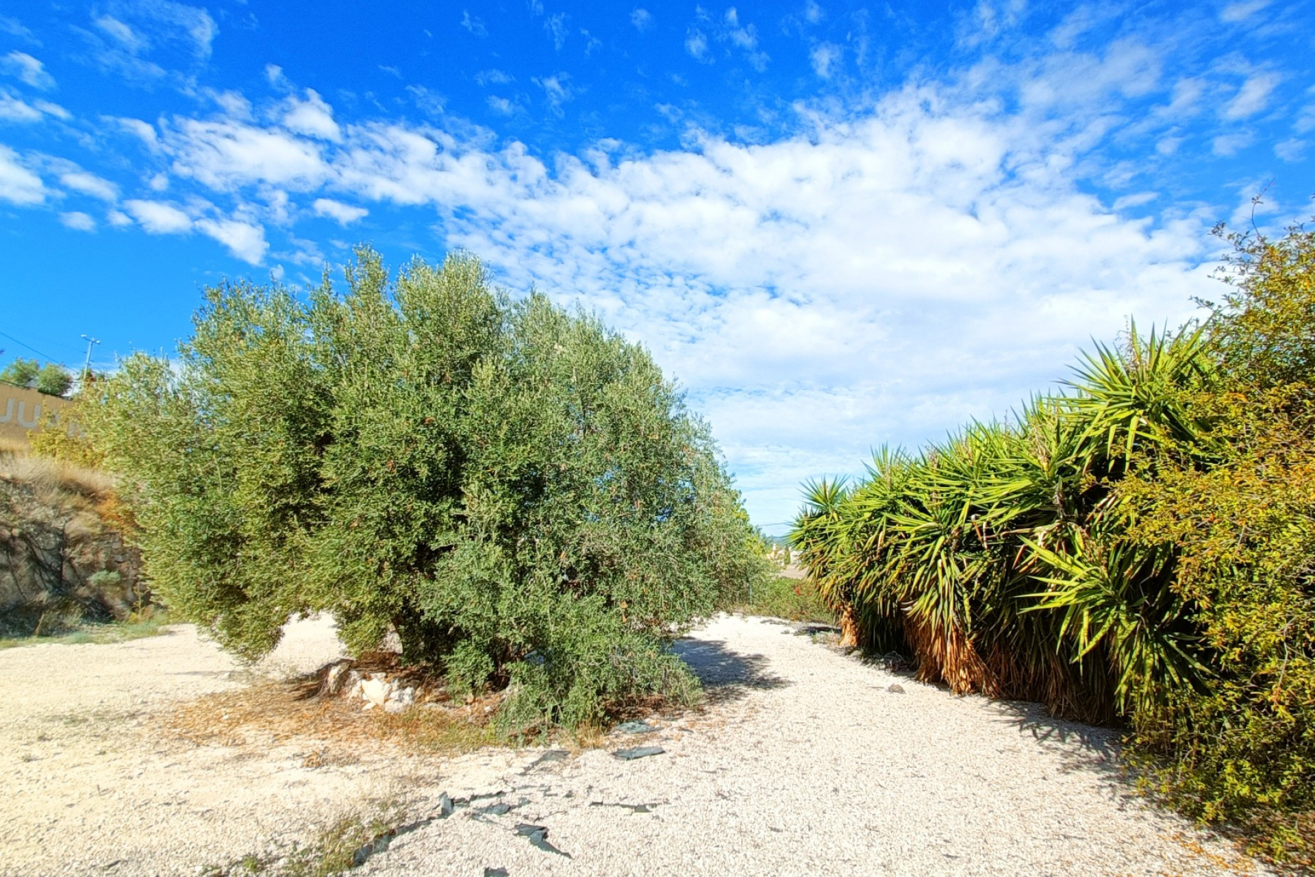
[[[1107,732],[956,698],[793,632],[715,619],[680,644],[709,706],[604,749],[318,768],[297,742],[150,738],[151,711],[245,678],[191,628],[0,652],[0,873],[200,873],[368,819],[380,799],[401,807],[398,831],[354,874],[1265,873],[1134,797]],[[314,667],[335,650],[312,625],[274,660]],[[639,746],[664,752],[611,755]]]

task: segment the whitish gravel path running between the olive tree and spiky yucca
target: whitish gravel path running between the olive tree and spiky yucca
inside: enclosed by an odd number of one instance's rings
[[[451,797],[502,792],[476,807],[515,809],[458,809],[401,834],[364,873],[1261,873],[1134,797],[1109,732],[952,697],[793,632],[723,617],[684,640],[714,706],[608,747],[663,755],[589,751],[497,776],[477,759],[450,764]],[[571,857],[517,823],[547,827]]]

